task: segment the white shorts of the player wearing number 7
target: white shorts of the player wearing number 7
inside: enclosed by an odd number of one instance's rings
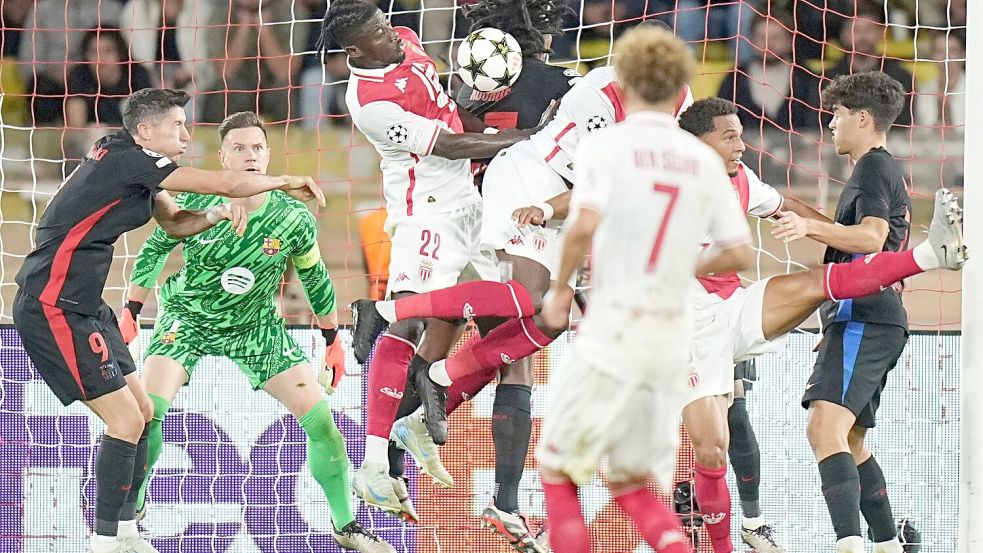
[[[554,372],[536,448],[540,465],[584,485],[607,456],[611,482],[652,475],[671,489],[685,374],[667,365],[666,376],[677,383],[621,379],[572,353]]]

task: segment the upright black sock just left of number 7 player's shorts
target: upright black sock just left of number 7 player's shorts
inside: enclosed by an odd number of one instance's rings
[[[492,406],[492,439],[495,441],[495,507],[519,511],[519,481],[529,453],[532,435],[532,388],[499,384]]]

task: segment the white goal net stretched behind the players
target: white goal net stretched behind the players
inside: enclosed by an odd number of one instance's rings
[[[452,68],[467,32],[465,0],[387,0],[394,24],[415,29],[431,57]],[[62,409],[9,326],[14,276],[33,247],[38,219],[91,142],[119,127],[118,101],[143,86],[186,88],[192,146],[181,163],[219,166],[217,124],[226,113],[257,110],[269,122],[271,174],[314,176],[328,203],[316,212],[322,254],[339,305],[385,290],[387,240],[379,159],[347,115],[345,56],[322,60],[314,45],[325,2],[318,0],[3,0],[0,58],[0,492],[4,551],[81,550],[94,515],[92,463],[102,426],[83,408]],[[910,92],[888,149],[906,171],[913,200],[912,243],[924,239],[931,198],[962,187],[966,0],[574,0],[551,62],[580,71],[610,61],[612,43],[643,17],[659,17],[693,48],[697,98],[720,95],[741,106],[745,163],[783,194],[832,214],[850,166],[832,147],[818,93],[841,73],[882,69]],[[114,29],[121,29],[119,33]],[[97,33],[98,32],[98,33]],[[446,86],[454,88],[453,79]],[[770,224],[751,220],[756,265],[748,282],[813,266],[822,247],[782,244]],[[105,300],[125,299],[125,283],[153,224],[116,244]],[[179,253],[165,275],[181,266]],[[163,278],[161,279],[161,282]],[[914,334],[891,373],[870,445],[881,459],[895,515],[908,517],[930,550],[948,551],[958,528],[960,280],[929,272],[906,283]],[[296,276],[279,298],[292,332],[315,366],[316,332]],[[157,311],[144,309],[145,322]],[[343,314],[343,322],[347,314]],[[813,328],[813,319],[804,326]],[[149,340],[149,329],[143,341]],[[348,335],[344,334],[348,340]],[[570,336],[535,359],[534,431]],[[805,437],[802,387],[817,336],[796,331],[762,357],[748,408],[761,443],[761,504],[790,551],[832,543],[818,472]],[[352,467],[364,454],[365,371],[348,359],[331,398]],[[418,526],[359,507],[363,522],[400,551],[508,551],[479,528],[493,491],[493,390],[451,418],[442,449],[455,488],[434,487],[408,463]],[[253,393],[226,360],[207,359],[182,390],[164,425],[165,451],[143,523],[161,551],[334,550],[326,503],[306,469],[302,431],[265,394]],[[676,479],[690,477],[684,448]],[[530,455],[520,508],[545,515]],[[731,478],[735,525],[740,520]],[[599,551],[650,551],[598,477],[583,491]],[[736,526],[735,526],[736,532]],[[734,534],[735,537],[737,534]],[[736,537],[735,539],[739,539]],[[702,540],[701,551],[709,551]],[[10,544],[9,547],[7,544]]]

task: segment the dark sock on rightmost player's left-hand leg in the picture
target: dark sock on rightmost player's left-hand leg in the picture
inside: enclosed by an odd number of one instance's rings
[[[840,452],[823,459],[819,476],[836,539],[860,536],[860,475],[853,455]]]

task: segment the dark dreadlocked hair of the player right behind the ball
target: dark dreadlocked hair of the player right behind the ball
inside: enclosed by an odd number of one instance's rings
[[[574,13],[554,0],[479,0],[463,9],[471,23],[469,32],[485,27],[505,31],[515,37],[526,57],[553,53],[546,47],[546,36],[562,34],[563,16]]]

